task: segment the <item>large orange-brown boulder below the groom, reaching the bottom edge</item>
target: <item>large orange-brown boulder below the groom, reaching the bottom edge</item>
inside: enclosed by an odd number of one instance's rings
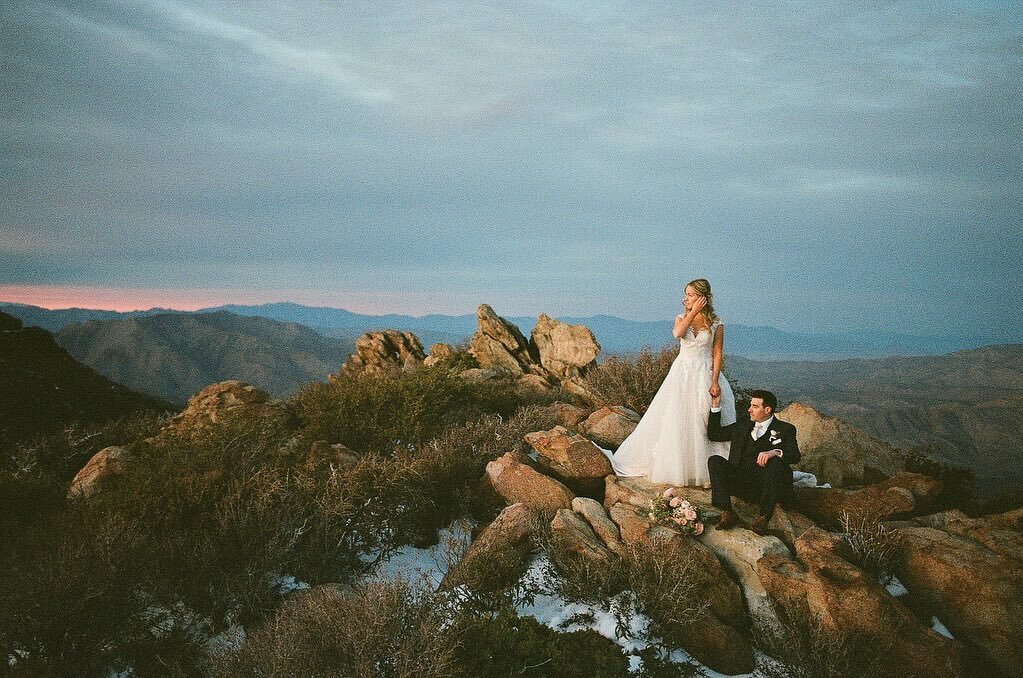
[[[793,560],[766,555],[757,574],[795,626],[852,651],[851,661],[887,676],[958,676],[962,645],[924,627],[872,577],[844,559],[839,538],[820,529],[796,540]],[[821,648],[822,649],[822,648]]]

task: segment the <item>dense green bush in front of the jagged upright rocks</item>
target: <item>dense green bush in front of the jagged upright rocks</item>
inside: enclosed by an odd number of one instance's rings
[[[421,367],[385,375],[336,375],[305,387],[293,403],[307,442],[389,454],[482,414],[507,416],[518,400],[509,383],[469,383],[447,370]]]

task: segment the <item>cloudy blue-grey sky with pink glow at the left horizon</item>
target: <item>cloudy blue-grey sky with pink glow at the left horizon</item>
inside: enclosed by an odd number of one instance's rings
[[[1023,341],[1015,2],[0,7],[0,300]]]

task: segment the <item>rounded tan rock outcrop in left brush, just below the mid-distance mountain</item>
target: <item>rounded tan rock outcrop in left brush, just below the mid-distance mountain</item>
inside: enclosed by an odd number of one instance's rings
[[[220,423],[230,417],[257,420],[290,417],[287,407],[270,394],[243,381],[220,381],[199,391],[188,406],[164,427],[164,432],[188,432]]]

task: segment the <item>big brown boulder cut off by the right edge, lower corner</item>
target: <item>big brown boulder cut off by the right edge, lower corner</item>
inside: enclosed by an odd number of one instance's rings
[[[1023,534],[1014,518],[950,513],[895,530],[895,574],[1002,675],[1023,675]]]

